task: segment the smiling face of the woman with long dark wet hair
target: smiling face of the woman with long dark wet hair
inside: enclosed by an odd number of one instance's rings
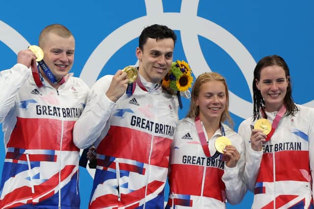
[[[285,70],[277,65],[262,68],[256,88],[261,91],[268,112],[279,111],[284,103],[288,88]]]

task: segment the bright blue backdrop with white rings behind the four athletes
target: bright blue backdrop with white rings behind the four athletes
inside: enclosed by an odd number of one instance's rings
[[[166,24],[178,35],[174,60],[187,60],[194,76],[217,71],[226,77],[237,130],[243,118],[251,116],[253,69],[266,55],[278,54],[287,61],[295,101],[314,107],[313,8],[311,0],[1,1],[0,70],[16,63],[19,50],[37,45],[46,25],[61,23],[76,38],[72,71],[92,86],[101,76],[136,63],[144,26]],[[189,106],[188,100],[183,102],[180,118]],[[3,146],[0,149],[2,169]],[[81,209],[87,208],[91,186],[91,175],[80,169]],[[252,198],[249,192],[241,204],[227,208],[249,209]]]

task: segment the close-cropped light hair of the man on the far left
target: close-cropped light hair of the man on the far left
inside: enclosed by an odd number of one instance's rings
[[[63,26],[62,24],[51,24],[46,26],[39,34],[39,46],[44,45],[44,40],[47,34],[54,33],[62,38],[70,38],[72,35],[71,31]]]

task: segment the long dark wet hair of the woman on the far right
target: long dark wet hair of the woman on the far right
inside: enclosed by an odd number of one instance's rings
[[[261,78],[261,70],[263,68],[269,67],[269,66],[278,66],[285,70],[286,79],[288,81],[288,87],[287,87],[287,93],[284,98],[284,104],[287,107],[287,113],[286,115],[292,115],[294,116],[298,108],[293,102],[292,98],[292,88],[291,88],[291,78],[289,73],[289,68],[285,60],[278,56],[278,55],[270,55],[263,57],[258,64],[256,65],[254,69],[254,78],[253,78],[253,120],[260,118],[260,110],[265,108],[265,101],[262,97],[261,91],[258,90],[256,87],[256,80],[260,81]]]

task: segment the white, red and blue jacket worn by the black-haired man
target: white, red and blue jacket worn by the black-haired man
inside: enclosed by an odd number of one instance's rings
[[[105,76],[93,86],[74,129],[78,147],[95,143],[97,151],[89,208],[163,209],[177,97],[142,78],[148,92],[136,86],[133,95],[114,103],[105,96],[111,79]]]

